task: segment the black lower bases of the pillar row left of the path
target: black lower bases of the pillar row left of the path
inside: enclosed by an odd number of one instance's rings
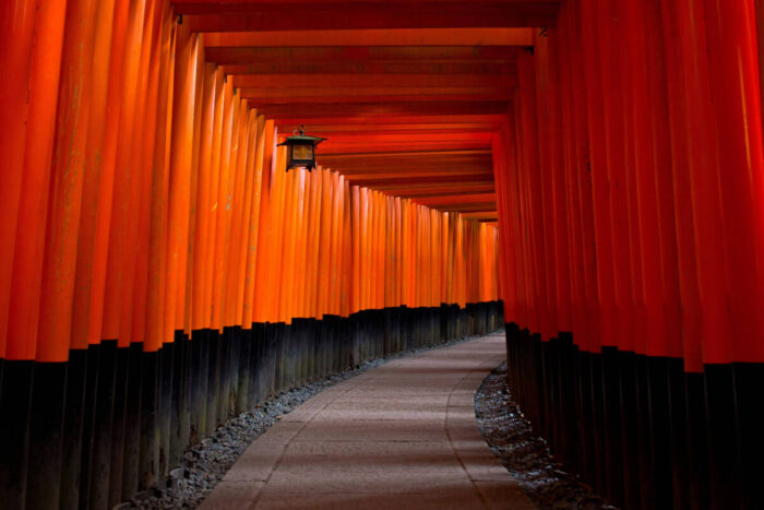
[[[487,333],[501,313],[500,303],[385,308],[190,337],[177,331],[153,353],[111,340],[60,364],[0,360],[0,508],[111,508],[274,393]]]

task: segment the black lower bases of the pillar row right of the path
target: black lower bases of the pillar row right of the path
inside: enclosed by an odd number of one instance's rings
[[[764,365],[541,342],[505,325],[508,378],[557,460],[626,509],[764,508]]]

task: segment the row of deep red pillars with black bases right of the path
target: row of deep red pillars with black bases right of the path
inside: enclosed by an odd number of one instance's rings
[[[569,0],[493,141],[520,398],[629,508],[759,501],[761,59],[717,3]]]

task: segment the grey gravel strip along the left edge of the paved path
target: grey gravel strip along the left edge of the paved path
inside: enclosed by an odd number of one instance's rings
[[[130,501],[115,507],[115,510],[196,508],[252,441],[275,425],[282,415],[293,412],[311,396],[393,359],[449,347],[485,335],[466,336],[371,359],[322,380],[274,395],[258,404],[254,410],[230,418],[215,429],[211,437],[187,449],[183,453],[183,465],[171,470],[171,476],[163,482],[162,487],[141,491]]]

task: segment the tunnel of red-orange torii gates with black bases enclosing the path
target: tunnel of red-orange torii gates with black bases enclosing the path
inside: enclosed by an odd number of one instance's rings
[[[763,508],[761,2],[295,1],[2,2],[0,507],[503,322],[566,470]]]

